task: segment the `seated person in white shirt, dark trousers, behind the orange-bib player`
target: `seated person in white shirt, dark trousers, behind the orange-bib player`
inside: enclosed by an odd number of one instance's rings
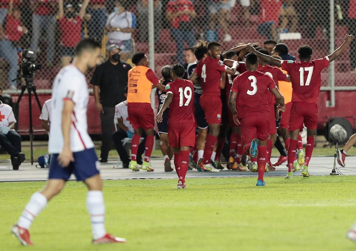
[[[127,86],[124,89],[125,97],[127,97]],[[112,134],[112,141],[114,141],[114,145],[116,148],[117,153],[120,156],[120,160],[122,161],[123,168],[129,168],[130,158],[127,156],[127,152],[122,145],[121,140],[125,138],[132,139],[133,136],[133,127],[129,120],[129,114],[127,113],[127,101],[122,101],[115,106],[115,121],[119,128],[117,128],[116,132]],[[142,154],[145,151],[145,142],[146,142],[146,134],[143,131],[142,137],[145,138],[142,142],[138,145],[137,150],[137,157],[136,161],[138,164],[142,164]]]

